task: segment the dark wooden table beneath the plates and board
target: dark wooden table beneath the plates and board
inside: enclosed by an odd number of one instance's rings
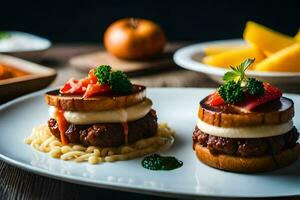
[[[85,74],[68,64],[69,58],[99,50],[94,44],[54,45],[41,64],[55,68],[57,79],[50,87],[62,85],[66,78],[83,77]],[[135,83],[154,87],[216,87],[218,84],[205,75],[180,69],[156,71],[142,76],[131,76]],[[121,191],[77,185],[35,175],[0,161],[0,199],[170,199]],[[209,198],[200,198],[209,199]],[[216,199],[216,198],[213,198]],[[279,199],[279,198],[278,198]],[[297,197],[285,199],[298,199]]]

